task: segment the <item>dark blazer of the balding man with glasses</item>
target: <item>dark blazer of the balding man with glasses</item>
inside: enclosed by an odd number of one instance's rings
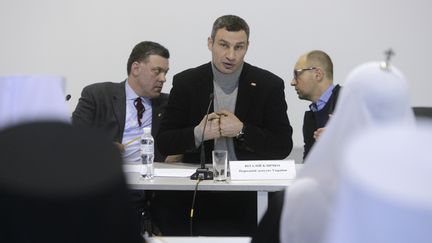
[[[317,119],[316,112],[313,112],[311,110],[305,112],[303,118],[303,140],[304,140],[303,159],[306,158],[306,156],[308,155],[309,151],[311,150],[312,146],[315,143],[315,138],[313,137],[313,133],[318,128],[324,127],[328,119],[330,118],[330,114],[333,113],[336,107],[336,102],[339,96],[340,88],[341,88],[340,85],[336,85],[333,88],[330,99],[328,100],[324,108],[319,111],[320,116],[322,117],[321,121],[318,121],[319,119]]]

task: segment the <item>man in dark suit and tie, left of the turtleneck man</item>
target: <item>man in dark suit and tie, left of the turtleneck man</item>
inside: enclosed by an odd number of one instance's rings
[[[140,136],[144,127],[151,127],[153,136],[168,101],[161,93],[169,69],[170,54],[164,46],[143,41],[133,49],[127,62],[128,77],[120,83],[95,83],[85,87],[72,114],[75,126],[103,131],[122,152],[123,161],[141,163]],[[155,149],[155,161],[165,156]],[[149,227],[148,200],[144,191],[131,190],[131,202],[143,230]]]

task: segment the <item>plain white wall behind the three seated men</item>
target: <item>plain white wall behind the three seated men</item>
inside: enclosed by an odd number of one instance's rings
[[[0,75],[48,73],[67,79],[71,110],[85,85],[121,81],[132,47],[153,40],[171,52],[173,74],[210,60],[207,37],[224,14],[251,28],[246,61],[285,80],[294,143],[308,102],[290,87],[297,57],[311,49],[329,53],[335,82],[365,61],[393,63],[407,76],[412,105],[432,106],[432,2],[430,0],[0,0]]]

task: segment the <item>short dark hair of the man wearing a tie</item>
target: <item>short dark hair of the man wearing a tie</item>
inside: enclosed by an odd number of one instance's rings
[[[127,72],[130,74],[132,63],[147,61],[150,55],[158,55],[169,58],[169,51],[159,43],[152,41],[143,41],[135,45],[129,56],[127,63]]]

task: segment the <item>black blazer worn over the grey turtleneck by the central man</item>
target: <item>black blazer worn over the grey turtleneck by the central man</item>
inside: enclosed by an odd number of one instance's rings
[[[211,93],[211,63],[174,76],[166,113],[156,136],[161,153],[184,154],[184,162],[199,162],[193,130],[206,114]],[[245,124],[244,139],[234,139],[239,160],[284,159],[289,155],[293,146],[292,128],[281,78],[244,63],[234,113]],[[213,144],[213,140],[205,142],[207,162],[211,161]]]

